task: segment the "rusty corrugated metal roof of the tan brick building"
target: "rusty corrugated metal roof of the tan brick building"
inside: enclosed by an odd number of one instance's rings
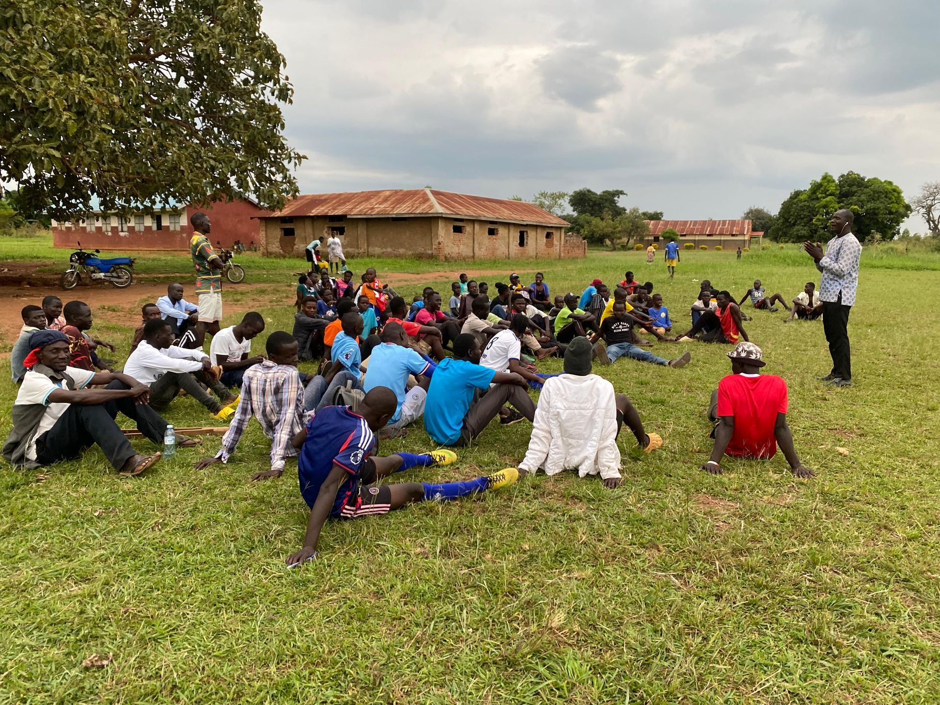
[[[384,215],[453,215],[458,218],[544,226],[568,225],[568,221],[525,201],[468,196],[435,189],[307,194],[297,196],[283,209],[272,213],[271,217],[290,218],[305,215],[346,215],[353,218]]]

